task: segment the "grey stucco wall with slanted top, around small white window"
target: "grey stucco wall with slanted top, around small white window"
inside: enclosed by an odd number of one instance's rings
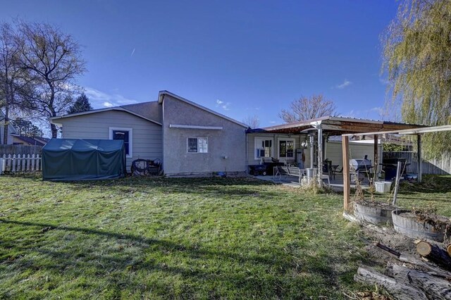
[[[186,129],[171,125],[223,129]],[[163,170],[166,175],[244,173],[246,170],[245,127],[169,95],[163,100],[163,137]],[[188,153],[187,139],[190,137],[207,138],[208,153]]]

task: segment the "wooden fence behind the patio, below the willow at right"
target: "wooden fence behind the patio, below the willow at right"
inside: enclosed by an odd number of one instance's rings
[[[383,152],[383,159],[385,158],[406,158],[407,163],[410,163],[410,165],[407,165],[407,173],[418,173],[418,156],[416,152]],[[451,173],[451,155],[443,154],[440,159],[423,159],[421,170],[423,174],[449,175]]]

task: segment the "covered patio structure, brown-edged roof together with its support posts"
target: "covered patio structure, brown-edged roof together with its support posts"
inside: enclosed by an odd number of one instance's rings
[[[318,139],[318,165],[323,163],[323,135],[334,136],[342,135],[347,137],[347,154],[349,154],[349,137],[352,135],[369,135],[374,137],[374,156],[375,161],[377,161],[378,156],[378,139],[377,135],[381,132],[399,132],[400,130],[412,130],[414,128],[426,127],[425,125],[407,124],[407,123],[396,123],[380,120],[366,120],[357,118],[344,118],[344,117],[334,117],[325,116],[321,118],[304,120],[300,122],[287,123],[283,125],[276,125],[271,127],[264,127],[254,130],[249,130],[248,132],[268,132],[268,133],[280,133],[280,134],[290,134],[290,135],[300,135],[309,134],[310,144],[314,142],[313,133],[316,132]],[[345,144],[345,140],[343,140]],[[343,151],[345,148],[343,146]],[[344,153],[344,152],[343,152]],[[313,147],[310,150],[311,158],[313,158]],[[343,156],[344,157],[344,156]],[[313,168],[313,159],[311,159],[311,168]],[[347,162],[347,172],[349,174],[349,161]],[[343,164],[345,167],[345,164]],[[343,168],[345,170],[345,168]],[[323,175],[323,168],[318,168],[319,177]],[[343,172],[343,176],[345,173]],[[322,185],[322,181],[319,182]]]

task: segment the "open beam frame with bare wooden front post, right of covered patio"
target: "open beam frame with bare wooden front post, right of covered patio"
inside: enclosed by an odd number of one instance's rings
[[[350,192],[351,192],[351,180],[350,180],[350,137],[373,135],[375,144],[378,140],[378,135],[393,134],[393,135],[416,135],[416,146],[418,149],[418,182],[421,182],[421,135],[428,132],[441,132],[451,131],[451,125],[434,126],[434,127],[416,127],[404,130],[385,130],[385,131],[369,131],[358,133],[346,133],[342,135],[342,149],[343,149],[343,206],[345,211],[349,208],[350,204]],[[376,148],[375,148],[376,151]],[[376,152],[375,152],[376,153]],[[375,165],[376,168],[376,165]],[[375,170],[376,172],[377,170]]]

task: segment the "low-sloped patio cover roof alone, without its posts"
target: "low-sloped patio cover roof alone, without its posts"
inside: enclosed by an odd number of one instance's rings
[[[321,124],[323,132],[327,132],[329,135],[342,135],[345,133],[357,133],[357,132],[380,132],[386,130],[404,130],[418,127],[427,127],[426,125],[396,123],[381,120],[366,120],[358,118],[344,118],[334,117],[331,115],[304,120],[300,122],[287,123],[282,125],[276,125],[271,127],[257,128],[248,130],[247,132],[271,132],[271,133],[286,133],[286,134],[299,134],[314,130],[316,125]]]

